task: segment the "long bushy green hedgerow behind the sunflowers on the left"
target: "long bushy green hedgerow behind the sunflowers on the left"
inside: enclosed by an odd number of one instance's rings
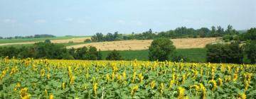
[[[38,42],[31,47],[0,47],[0,57],[16,57],[26,59],[102,59],[100,51],[96,47],[81,47],[78,49],[66,49],[63,45],[50,42]]]

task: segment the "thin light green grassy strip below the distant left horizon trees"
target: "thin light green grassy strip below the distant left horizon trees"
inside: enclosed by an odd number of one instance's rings
[[[24,39],[0,39],[0,44],[14,42],[38,42],[44,40],[65,40],[70,38],[89,37],[89,36],[65,36],[65,37],[45,37],[45,38],[24,38]]]

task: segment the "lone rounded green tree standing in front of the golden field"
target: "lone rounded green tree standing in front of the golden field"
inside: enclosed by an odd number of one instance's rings
[[[149,60],[150,61],[165,61],[169,60],[169,55],[175,51],[173,42],[168,38],[157,38],[151,42],[149,47]]]

